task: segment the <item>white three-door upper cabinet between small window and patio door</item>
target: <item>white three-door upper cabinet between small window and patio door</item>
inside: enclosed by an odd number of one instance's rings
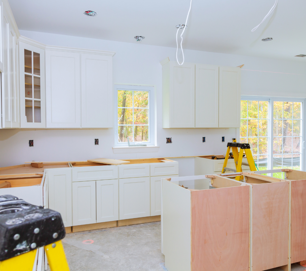
[[[161,65],[163,128],[240,127],[240,68]]]

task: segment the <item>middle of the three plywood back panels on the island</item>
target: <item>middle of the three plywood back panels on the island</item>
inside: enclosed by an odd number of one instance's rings
[[[252,185],[252,266],[288,264],[289,182]]]

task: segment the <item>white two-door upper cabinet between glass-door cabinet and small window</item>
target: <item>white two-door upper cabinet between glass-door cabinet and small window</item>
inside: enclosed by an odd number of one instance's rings
[[[47,128],[112,127],[113,55],[46,46]]]

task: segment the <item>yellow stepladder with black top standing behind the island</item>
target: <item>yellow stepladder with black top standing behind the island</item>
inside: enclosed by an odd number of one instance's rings
[[[241,169],[241,165],[246,165],[250,167],[250,171],[256,171],[256,164],[254,162],[253,156],[252,156],[252,152],[251,152],[251,147],[249,143],[238,143],[236,142],[236,138],[232,139],[233,142],[229,142],[227,143],[227,151],[226,151],[226,155],[225,155],[225,160],[223,163],[223,167],[222,167],[222,173],[225,173],[226,170],[229,171],[233,171],[233,172],[242,172]],[[238,148],[240,148],[239,152],[238,152]],[[233,159],[235,161],[235,166],[236,169],[230,169],[227,168],[227,161],[229,159],[230,156],[230,150],[232,149],[232,156]],[[244,153],[245,156],[248,160],[248,163],[244,163],[242,162],[242,158],[244,157]],[[243,176],[236,176],[235,180],[241,180],[243,178]]]

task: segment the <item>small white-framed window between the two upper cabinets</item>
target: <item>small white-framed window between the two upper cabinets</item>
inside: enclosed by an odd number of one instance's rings
[[[128,139],[132,144],[154,145],[152,92],[148,86],[115,87],[116,146],[128,146]]]

